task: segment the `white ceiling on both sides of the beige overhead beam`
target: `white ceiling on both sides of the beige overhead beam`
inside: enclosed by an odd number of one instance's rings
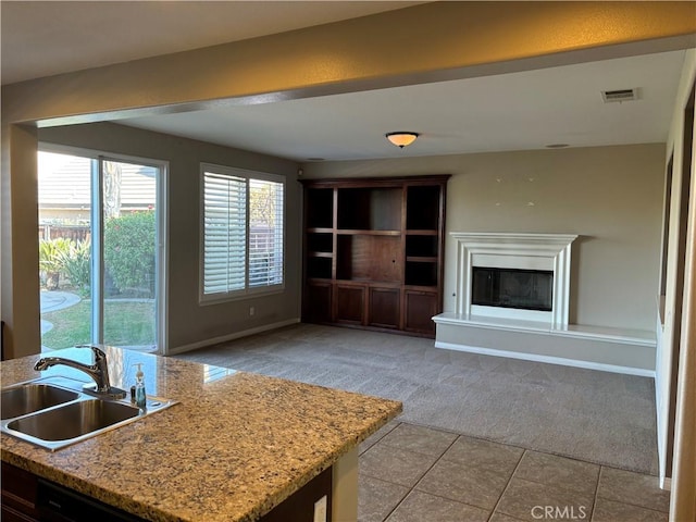
[[[12,83],[413,3],[422,2],[3,0],[2,79]],[[299,162],[658,142],[667,139],[684,55],[672,51],[119,123]],[[604,103],[602,90],[625,88],[637,88],[638,100]],[[400,150],[384,138],[391,130],[421,137]]]

